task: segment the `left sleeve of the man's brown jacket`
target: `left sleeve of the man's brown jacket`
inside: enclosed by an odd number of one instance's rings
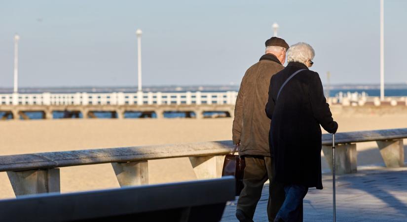
[[[243,127],[243,98],[244,98],[244,85],[243,80],[240,83],[239,92],[237,93],[235,112],[232,126],[232,140],[233,144],[240,143],[240,135]]]

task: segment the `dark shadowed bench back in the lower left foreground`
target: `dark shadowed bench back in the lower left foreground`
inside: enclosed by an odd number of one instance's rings
[[[233,177],[0,200],[2,222],[219,222]]]

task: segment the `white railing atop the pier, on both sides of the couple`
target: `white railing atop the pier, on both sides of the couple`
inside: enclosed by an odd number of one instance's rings
[[[135,92],[135,93],[12,93],[0,94],[1,105],[201,105],[227,104],[234,105],[237,92]],[[380,106],[388,102],[392,106],[405,104],[407,97],[386,97],[380,101],[379,97],[370,97],[366,93],[342,93],[331,97],[330,104],[343,106],[363,106],[373,103]]]

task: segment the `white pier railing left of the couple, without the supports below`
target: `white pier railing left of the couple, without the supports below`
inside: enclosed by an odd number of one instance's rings
[[[1,105],[234,105],[237,92],[0,94]]]

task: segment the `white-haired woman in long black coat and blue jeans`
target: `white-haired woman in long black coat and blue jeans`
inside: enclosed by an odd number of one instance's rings
[[[302,221],[302,199],[308,188],[322,189],[320,125],[330,133],[338,128],[318,73],[308,69],[314,56],[309,44],[296,43],[287,51],[287,67],[271,77],[266,104],[270,152],[274,180],[286,192],[275,222]]]

